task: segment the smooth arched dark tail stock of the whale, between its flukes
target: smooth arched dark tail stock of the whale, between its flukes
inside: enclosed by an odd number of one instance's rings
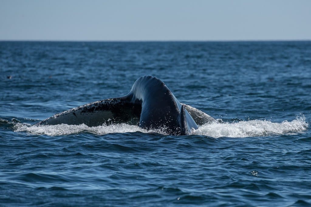
[[[188,135],[197,124],[169,88],[160,79],[144,76],[136,80],[127,95],[132,103],[142,102],[139,126],[142,128],[164,128],[173,135]],[[185,130],[186,129],[186,130]]]

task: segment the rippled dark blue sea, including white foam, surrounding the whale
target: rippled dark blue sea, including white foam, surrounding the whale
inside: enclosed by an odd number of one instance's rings
[[[190,136],[31,126],[160,78]],[[311,205],[311,42],[0,42],[1,206]]]

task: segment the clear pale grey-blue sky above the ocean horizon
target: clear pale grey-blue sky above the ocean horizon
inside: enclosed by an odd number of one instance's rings
[[[311,0],[0,0],[0,40],[311,40]]]

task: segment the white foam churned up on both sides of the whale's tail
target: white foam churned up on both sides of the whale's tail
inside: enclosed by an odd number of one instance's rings
[[[212,123],[204,124],[193,131],[196,135],[205,135],[210,137],[259,137],[267,135],[278,135],[292,132],[299,132],[306,130],[308,123],[306,123],[304,116],[299,116],[292,121],[283,121],[282,123],[275,123],[266,120],[251,120],[239,121],[236,123]],[[89,132],[98,135],[108,133],[125,133],[140,131],[143,133],[163,133],[163,130],[146,130],[138,126],[129,124],[113,124],[103,125],[97,127],[88,127],[85,124],[80,125],[43,125],[30,126],[27,124],[15,124],[16,132],[28,132],[32,134],[45,134],[49,136],[77,134],[82,132]]]

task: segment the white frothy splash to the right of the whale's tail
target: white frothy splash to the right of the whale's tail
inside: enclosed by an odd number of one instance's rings
[[[305,117],[297,116],[293,121],[275,123],[266,120],[239,121],[236,123],[212,123],[204,124],[194,130],[194,134],[209,137],[259,137],[267,135],[279,135],[289,132],[306,130],[308,124]]]

